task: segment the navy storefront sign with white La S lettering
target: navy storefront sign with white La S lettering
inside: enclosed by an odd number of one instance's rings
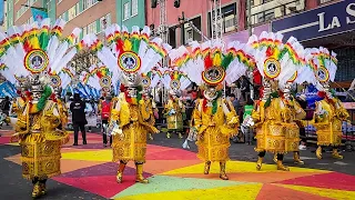
[[[272,22],[272,30],[300,41],[355,30],[355,2],[344,0]]]

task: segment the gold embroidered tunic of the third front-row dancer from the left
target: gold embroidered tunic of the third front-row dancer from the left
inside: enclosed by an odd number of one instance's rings
[[[230,159],[230,138],[237,133],[239,119],[230,101],[222,98],[216,101],[217,109],[214,114],[209,109],[204,111],[203,100],[197,100],[193,111],[193,122],[199,136],[197,157],[203,161],[225,162]],[[229,107],[229,113],[223,111],[223,103]]]

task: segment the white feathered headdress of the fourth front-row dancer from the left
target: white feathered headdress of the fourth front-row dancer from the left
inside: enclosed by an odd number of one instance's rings
[[[264,79],[277,81],[284,88],[297,77],[297,70],[305,64],[304,48],[291,37],[283,43],[281,33],[262,32],[257,38],[252,36],[248,46],[254,48],[256,66]]]

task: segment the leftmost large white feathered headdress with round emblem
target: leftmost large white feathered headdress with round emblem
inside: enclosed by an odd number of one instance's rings
[[[51,84],[52,76],[57,76],[59,82],[55,83],[61,83],[58,74],[77,53],[73,40],[80,33],[77,28],[69,37],[61,39],[64,24],[61,19],[52,26],[50,19],[43,19],[41,23],[11,27],[7,34],[0,32],[0,57],[8,67],[1,73],[12,81],[11,77],[19,80],[33,76],[33,79],[26,80],[40,79],[41,84]]]

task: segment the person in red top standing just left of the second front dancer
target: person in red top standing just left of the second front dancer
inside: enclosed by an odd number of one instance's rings
[[[104,101],[101,102],[100,110],[101,121],[102,121],[102,139],[103,146],[108,146],[108,127],[109,127],[109,118],[111,112],[111,97],[108,96]],[[110,136],[110,147],[112,146],[112,136]]]

